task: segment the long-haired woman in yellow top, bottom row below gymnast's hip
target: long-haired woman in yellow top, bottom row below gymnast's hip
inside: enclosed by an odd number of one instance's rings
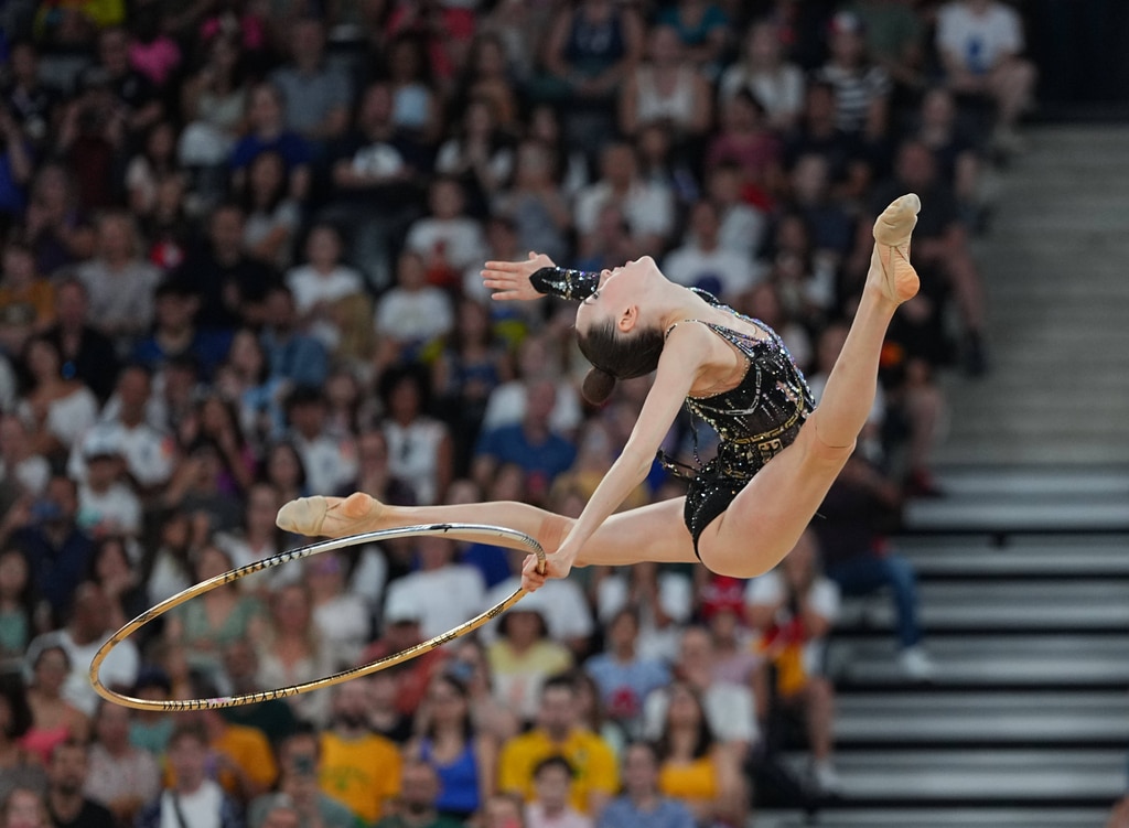
[[[657,752],[659,791],[685,804],[695,822],[744,823],[749,805],[741,757],[717,741],[701,697],[684,682],[669,687]]]

